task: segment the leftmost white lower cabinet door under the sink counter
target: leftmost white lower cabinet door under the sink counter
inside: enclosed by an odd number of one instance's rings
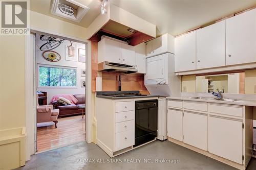
[[[182,110],[168,109],[167,136],[182,141]]]

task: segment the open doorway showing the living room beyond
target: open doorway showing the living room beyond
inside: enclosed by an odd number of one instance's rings
[[[86,140],[87,43],[35,35],[35,151]]]

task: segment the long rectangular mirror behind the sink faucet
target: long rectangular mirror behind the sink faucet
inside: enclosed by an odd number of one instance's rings
[[[196,76],[196,92],[245,93],[245,72]]]

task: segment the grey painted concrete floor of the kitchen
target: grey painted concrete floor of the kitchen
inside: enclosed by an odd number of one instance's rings
[[[153,163],[86,163],[84,159],[132,161],[151,159]],[[179,163],[155,163],[155,159],[176,159]],[[134,160],[135,161],[135,160]],[[142,162],[142,160],[141,160]],[[236,169],[183,148],[169,141],[154,141],[133,151],[110,159],[97,145],[80,142],[68,147],[33,155],[26,166],[17,169]],[[256,159],[252,158],[247,169],[256,169]]]

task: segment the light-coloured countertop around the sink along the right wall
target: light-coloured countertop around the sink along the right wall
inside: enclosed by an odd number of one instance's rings
[[[198,97],[198,96],[195,96]],[[191,99],[191,96],[169,96],[167,99],[176,99],[184,101],[198,101],[198,102],[208,102],[208,103],[222,103],[230,105],[242,105],[242,106],[254,106],[256,107],[256,101],[253,100],[237,100],[237,101],[220,101],[220,100],[207,100],[207,99]]]

